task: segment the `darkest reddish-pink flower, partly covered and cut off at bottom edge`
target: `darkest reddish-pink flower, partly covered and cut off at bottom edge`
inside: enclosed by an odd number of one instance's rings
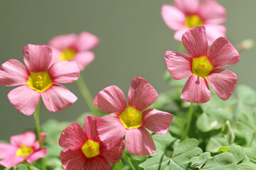
[[[96,130],[96,116],[85,117],[85,129],[79,123],[72,123],[60,135],[59,145],[65,147],[60,153],[64,169],[112,169],[109,162],[115,164],[122,158],[124,142],[119,140],[108,149]]]

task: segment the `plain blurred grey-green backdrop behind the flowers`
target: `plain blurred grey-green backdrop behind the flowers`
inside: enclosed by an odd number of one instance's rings
[[[256,1],[218,0],[228,13],[226,37],[233,45],[246,38],[256,40]],[[170,89],[164,81],[164,52],[178,49],[174,30],[161,18],[161,6],[171,0],[2,0],[0,1],[0,63],[15,58],[23,62],[28,43],[46,45],[55,35],[88,31],[100,38],[93,50],[95,60],[82,72],[92,97],[110,85],[127,94],[134,77],[144,77],[159,93]],[[256,48],[241,52],[241,60],[228,69],[238,75],[238,84],[255,88]],[[41,105],[41,123],[50,118],[74,120],[89,111],[78,85],[64,84],[78,96],[72,106],[50,113]],[[7,98],[14,87],[0,86],[0,140],[9,140],[34,128],[33,115],[16,111]]]

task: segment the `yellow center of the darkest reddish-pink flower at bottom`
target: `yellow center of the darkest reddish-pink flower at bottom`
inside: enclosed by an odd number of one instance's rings
[[[96,157],[98,154],[100,154],[100,144],[92,140],[87,140],[85,145],[82,145],[81,150],[87,158]]]

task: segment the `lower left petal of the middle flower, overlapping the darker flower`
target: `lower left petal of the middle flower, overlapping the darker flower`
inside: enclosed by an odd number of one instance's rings
[[[114,116],[104,116],[97,119],[96,126],[100,140],[107,148],[117,145],[126,132],[122,122]]]

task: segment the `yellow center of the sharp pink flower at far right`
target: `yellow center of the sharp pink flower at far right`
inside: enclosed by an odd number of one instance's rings
[[[192,72],[198,77],[207,77],[212,69],[213,65],[206,56],[194,58],[192,61]]]

